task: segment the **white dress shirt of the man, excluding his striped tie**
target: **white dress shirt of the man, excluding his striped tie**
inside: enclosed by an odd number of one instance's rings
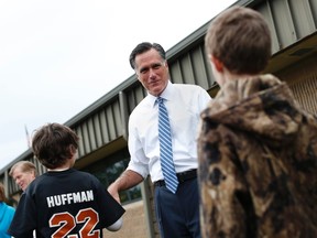
[[[197,85],[172,84],[160,96],[168,111],[173,159],[176,173],[197,169],[197,130],[200,112],[211,100],[209,94]],[[158,110],[156,97],[147,95],[132,111],[129,119],[128,170],[153,182],[163,180],[160,163]]]

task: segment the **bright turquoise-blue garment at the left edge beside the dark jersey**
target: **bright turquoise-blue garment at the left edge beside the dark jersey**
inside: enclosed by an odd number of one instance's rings
[[[6,203],[0,202],[0,237],[10,238],[11,236],[7,232],[10,224],[13,219],[15,209],[8,206]]]

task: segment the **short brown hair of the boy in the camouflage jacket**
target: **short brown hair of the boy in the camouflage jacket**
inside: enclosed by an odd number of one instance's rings
[[[271,57],[271,33],[255,10],[232,7],[211,21],[205,37],[208,55],[214,55],[234,74],[259,74]]]

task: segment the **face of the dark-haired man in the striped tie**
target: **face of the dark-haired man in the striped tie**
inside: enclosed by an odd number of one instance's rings
[[[160,96],[168,83],[167,63],[154,48],[135,56],[135,73],[143,87],[153,96]]]

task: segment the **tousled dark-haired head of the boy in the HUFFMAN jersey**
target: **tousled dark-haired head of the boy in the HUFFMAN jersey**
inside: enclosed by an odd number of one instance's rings
[[[78,149],[77,134],[59,123],[47,123],[35,131],[32,149],[36,159],[47,169],[56,169],[73,159]]]

